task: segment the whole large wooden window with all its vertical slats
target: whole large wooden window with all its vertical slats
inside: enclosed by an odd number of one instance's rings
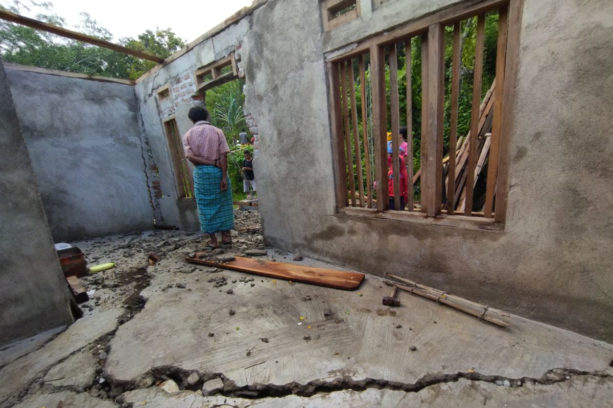
[[[421,169],[413,176],[413,168],[407,163],[409,177],[406,182],[416,182],[421,179],[421,205],[414,202],[413,187],[408,187],[408,213],[421,211],[428,217],[440,217],[443,209],[447,215],[456,217],[463,214],[466,217],[481,217],[494,221],[504,221],[506,217],[506,201],[508,193],[508,163],[509,141],[512,127],[512,106],[514,102],[514,83],[517,71],[517,49],[519,47],[520,19],[523,0],[489,0],[470,2],[468,6],[459,5],[434,13],[422,20],[406,24],[398,29],[358,42],[348,53],[329,59],[327,73],[330,81],[330,116],[332,119],[333,157],[335,165],[335,187],[337,191],[337,209],[349,207],[373,207],[373,194],[368,191],[364,196],[363,174],[359,161],[361,144],[368,150],[368,135],[364,111],[365,83],[362,70],[369,63],[371,89],[371,146],[373,147],[375,180],[376,180],[376,210],[389,210],[387,189],[387,118],[390,117],[392,133],[392,180],[394,183],[394,208],[400,209],[398,144],[401,142],[398,123],[399,95],[398,53],[409,59],[411,39],[419,37],[422,45],[422,133],[421,133]],[[481,103],[482,59],[484,45],[485,13],[498,12],[498,48],[496,59],[495,89],[487,98],[491,103]],[[467,18],[477,19],[477,39],[475,53],[473,102],[471,109],[470,132],[463,140],[462,148],[457,150],[457,116],[459,94],[459,36],[460,21]],[[443,159],[443,103],[444,103],[444,29],[453,29],[452,44],[452,86],[451,86],[451,117],[449,137],[449,157]],[[362,97],[362,126],[364,135],[358,135],[356,130],[356,101],[353,90],[354,69],[359,71]],[[386,67],[389,67],[390,98],[389,108],[386,95]],[[411,84],[407,73],[406,106],[408,109],[408,145],[411,143],[413,118],[411,117]],[[350,92],[348,92],[350,91]],[[488,100],[487,102],[490,102]],[[484,112],[485,109],[490,111]],[[351,124],[351,126],[350,126]],[[488,128],[490,126],[490,128]],[[491,136],[486,136],[491,133]],[[487,146],[487,147],[485,147]],[[485,147],[485,148],[484,148]],[[366,154],[367,151],[364,151]],[[413,152],[411,152],[413,153]],[[417,154],[417,152],[414,152]],[[461,155],[463,154],[463,156]],[[410,156],[409,156],[410,157]],[[459,160],[462,158],[462,167]],[[487,190],[482,212],[473,211],[473,193],[475,177],[487,160]],[[407,160],[411,161],[411,160]],[[367,165],[371,161],[366,160]],[[446,179],[443,178],[444,166],[448,169]],[[367,169],[367,178],[370,177]],[[460,177],[459,177],[460,176]],[[450,182],[449,180],[455,180]],[[463,181],[462,181],[463,180]],[[466,181],[471,180],[471,181]],[[459,181],[461,181],[460,184]],[[358,183],[356,188],[356,182]],[[367,182],[367,190],[371,188],[371,180]],[[449,199],[442,200],[443,188]],[[458,202],[458,191],[462,191],[461,202]],[[368,199],[366,199],[366,197]],[[494,200],[495,198],[495,200]],[[415,205],[414,205],[415,204]]]

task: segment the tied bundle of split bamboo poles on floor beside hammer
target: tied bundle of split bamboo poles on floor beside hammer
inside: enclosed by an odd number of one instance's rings
[[[464,299],[459,296],[448,294],[447,292],[401,278],[400,276],[392,275],[390,273],[386,273],[386,276],[392,279],[385,281],[385,283],[389,284],[390,286],[396,286],[398,289],[402,289],[403,291],[411,294],[416,294],[421,297],[425,297],[426,299],[434,300],[436,303],[443,303],[443,305],[447,305],[455,310],[459,310],[466,314],[470,314],[471,316],[477,317],[479,320],[484,320],[500,327],[508,327],[509,325],[507,322],[491,316],[491,313],[495,313],[499,316],[509,317],[511,316],[509,313],[472,302],[471,300]],[[397,281],[407,283],[410,286],[405,286]]]

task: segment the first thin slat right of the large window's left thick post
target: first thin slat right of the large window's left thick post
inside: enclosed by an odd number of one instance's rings
[[[392,174],[394,177],[394,209],[400,210],[400,102],[398,101],[398,53],[396,44],[389,47],[389,107],[392,122]]]

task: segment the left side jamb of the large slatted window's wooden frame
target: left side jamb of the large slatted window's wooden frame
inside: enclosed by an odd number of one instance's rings
[[[327,64],[330,78],[330,118],[332,119],[332,155],[335,158],[335,188],[337,190],[337,210],[348,206],[347,165],[345,161],[345,141],[343,138],[343,116],[341,113],[340,83],[338,81],[339,64]]]

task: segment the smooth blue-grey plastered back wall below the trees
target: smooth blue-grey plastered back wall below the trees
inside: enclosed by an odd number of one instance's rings
[[[132,86],[7,70],[56,242],[151,229]]]

